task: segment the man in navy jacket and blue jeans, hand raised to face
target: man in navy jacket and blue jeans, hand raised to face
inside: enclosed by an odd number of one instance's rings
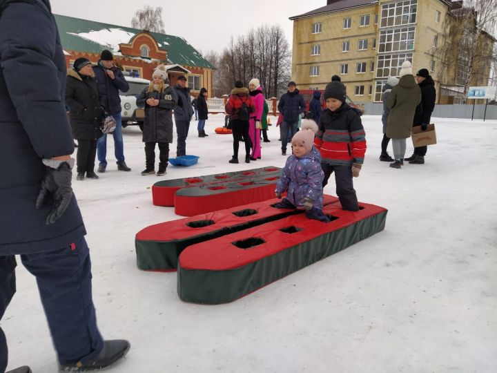
[[[114,153],[119,171],[131,171],[124,160],[124,142],[122,138],[121,123],[121,97],[119,90],[128,92],[129,84],[117,66],[113,64],[114,56],[110,50],[103,50],[97,66],[93,67],[95,79],[100,92],[100,104],[105,108],[108,115],[112,115],[116,121],[112,133],[114,139]],[[104,133],[97,142],[97,156],[99,159],[99,172],[105,172],[107,168],[107,134]]]

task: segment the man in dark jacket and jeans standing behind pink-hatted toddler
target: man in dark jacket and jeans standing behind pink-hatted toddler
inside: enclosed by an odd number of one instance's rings
[[[298,131],[298,121],[300,114],[304,113],[304,97],[300,95],[295,82],[289,82],[288,91],[280,97],[278,111],[283,114],[281,127],[282,135],[282,155],[286,155],[286,144]]]

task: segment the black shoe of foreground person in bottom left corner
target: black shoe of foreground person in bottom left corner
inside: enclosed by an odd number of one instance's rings
[[[130,343],[124,339],[115,339],[113,341],[104,341],[104,349],[101,350],[99,356],[93,361],[82,363],[75,361],[59,366],[60,372],[90,372],[92,370],[102,370],[110,367],[118,360],[123,358],[130,349]]]

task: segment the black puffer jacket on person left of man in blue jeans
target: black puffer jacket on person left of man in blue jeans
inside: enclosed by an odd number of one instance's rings
[[[76,140],[97,140],[104,109],[100,106],[97,82],[92,77],[69,69],[66,81],[66,104],[72,136]]]

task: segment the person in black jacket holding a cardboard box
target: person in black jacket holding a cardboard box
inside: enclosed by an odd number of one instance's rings
[[[416,74],[416,82],[421,90],[421,102],[416,106],[416,113],[414,114],[413,126],[421,126],[422,131],[426,131],[428,124],[431,122],[431,113],[435,108],[436,102],[436,89],[433,78],[429,75],[426,68],[422,68]],[[428,146],[419,146],[414,148],[414,154],[406,158],[411,164],[424,164],[425,155]]]

